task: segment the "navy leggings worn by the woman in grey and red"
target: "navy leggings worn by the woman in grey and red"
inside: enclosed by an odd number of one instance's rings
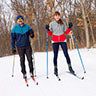
[[[67,63],[71,64],[70,57],[69,57],[69,54],[68,54],[67,43],[66,42],[59,42],[59,43],[53,43],[53,52],[54,52],[53,62],[54,62],[54,65],[57,66],[59,45],[61,45],[63,53],[66,57]]]

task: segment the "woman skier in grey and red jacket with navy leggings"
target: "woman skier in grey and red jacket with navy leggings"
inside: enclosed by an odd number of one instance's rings
[[[54,14],[54,21],[52,21],[49,25],[46,25],[46,29],[48,30],[48,35],[52,36],[52,44],[53,44],[53,52],[54,52],[54,74],[58,76],[58,67],[57,67],[57,58],[58,58],[58,50],[59,45],[61,46],[63,53],[66,57],[66,61],[68,64],[69,71],[74,74],[74,70],[71,66],[71,60],[68,54],[68,48],[66,43],[66,35],[70,34],[72,23],[69,23],[69,28],[66,28],[65,23],[60,18],[60,13],[58,11]]]

